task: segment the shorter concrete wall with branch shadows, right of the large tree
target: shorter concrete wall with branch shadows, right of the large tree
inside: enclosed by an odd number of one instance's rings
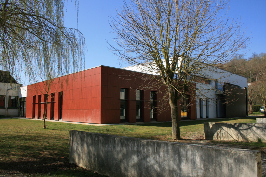
[[[266,142],[266,124],[204,122],[205,140]]]

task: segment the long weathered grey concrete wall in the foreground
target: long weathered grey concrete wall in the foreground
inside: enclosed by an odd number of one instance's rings
[[[70,131],[69,162],[108,176],[261,176],[261,153]]]

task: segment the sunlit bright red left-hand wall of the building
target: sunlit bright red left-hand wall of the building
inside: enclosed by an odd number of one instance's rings
[[[28,85],[26,118],[33,117],[33,96],[38,99],[38,95],[42,95],[41,99],[44,102],[45,84],[47,83],[40,82]],[[51,93],[55,94],[54,120],[60,120],[62,117],[62,120],[70,122],[101,123],[101,67],[56,78],[50,85],[51,89],[47,96],[51,101]],[[38,114],[38,104],[41,105],[39,114],[42,115],[45,110],[45,103],[38,103],[37,100],[36,103],[35,118]],[[51,102],[48,102],[47,119],[51,119],[51,109]]]

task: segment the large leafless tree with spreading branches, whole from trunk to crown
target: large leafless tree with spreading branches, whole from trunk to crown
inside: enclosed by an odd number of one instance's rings
[[[155,73],[168,94],[172,137],[180,140],[177,101],[189,91],[193,76],[230,60],[247,47],[239,22],[228,19],[221,0],[132,0],[110,22],[117,38],[111,46],[126,64]]]

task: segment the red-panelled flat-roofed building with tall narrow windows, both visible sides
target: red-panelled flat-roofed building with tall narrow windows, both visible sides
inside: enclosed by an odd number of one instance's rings
[[[145,74],[124,69],[98,66],[58,77],[47,85],[28,85],[26,118],[43,119],[46,98],[47,119],[84,123],[120,123],[171,121],[168,105],[161,105],[163,93],[141,88]],[[179,117],[196,119],[195,101]],[[160,111],[157,107],[160,107]],[[185,111],[185,112],[184,112]]]

